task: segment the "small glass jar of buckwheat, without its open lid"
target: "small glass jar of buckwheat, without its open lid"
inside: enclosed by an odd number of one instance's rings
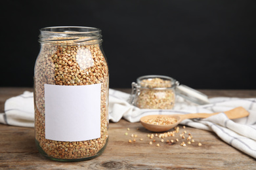
[[[173,109],[179,82],[169,76],[148,75],[132,84],[131,103],[140,109]]]

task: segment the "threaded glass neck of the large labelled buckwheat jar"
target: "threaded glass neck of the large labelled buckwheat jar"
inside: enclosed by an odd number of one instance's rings
[[[101,30],[95,27],[44,27],[39,42],[51,44],[98,44]]]

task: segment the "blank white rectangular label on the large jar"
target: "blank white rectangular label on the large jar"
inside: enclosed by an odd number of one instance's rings
[[[101,84],[45,84],[45,139],[87,141],[100,137]]]

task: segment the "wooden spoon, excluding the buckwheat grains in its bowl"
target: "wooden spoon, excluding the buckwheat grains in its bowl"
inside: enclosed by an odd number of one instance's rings
[[[187,118],[208,118],[209,116],[213,116],[215,114],[219,114],[220,112],[214,112],[214,113],[192,113],[192,114],[162,114],[162,115],[149,115],[149,116],[143,116],[140,118],[140,123],[142,126],[144,126],[146,129],[150,131],[167,131],[175,126],[177,126],[182,120],[185,120]],[[249,112],[244,109],[244,107],[236,107],[235,109],[225,111],[224,114],[230,119],[236,119],[236,118],[244,118],[245,116],[249,115]],[[155,124],[149,124],[146,123],[148,119],[151,118],[176,118],[177,122],[174,124],[169,125],[155,125]]]

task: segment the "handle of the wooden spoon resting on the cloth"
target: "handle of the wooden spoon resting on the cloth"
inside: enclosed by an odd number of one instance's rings
[[[213,116],[215,114],[219,114],[220,112],[214,113],[191,113],[191,114],[182,114],[182,120],[187,118],[208,118],[209,116]],[[249,115],[249,112],[244,109],[244,107],[236,107],[232,110],[225,111],[224,114],[229,119],[243,118]]]

